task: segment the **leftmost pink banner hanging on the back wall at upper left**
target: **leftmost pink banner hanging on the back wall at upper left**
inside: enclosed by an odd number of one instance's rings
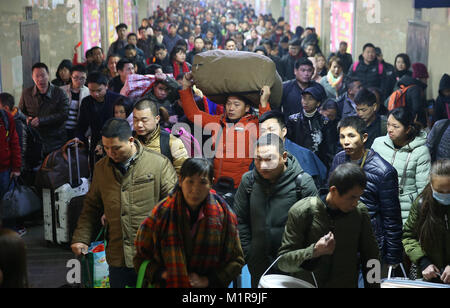
[[[94,46],[102,46],[100,1],[83,1],[83,55]]]

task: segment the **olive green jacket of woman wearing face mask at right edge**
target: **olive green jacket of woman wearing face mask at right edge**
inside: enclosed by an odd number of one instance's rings
[[[427,257],[431,264],[436,265],[440,270],[450,265],[450,230],[445,223],[445,215],[447,220],[450,219],[450,206],[438,205],[437,212],[441,217],[435,222],[435,227],[438,230],[439,239],[433,242],[432,248],[425,251],[419,242],[419,234],[417,229],[419,227],[419,220],[421,218],[421,203],[422,197],[414,201],[411,211],[409,212],[408,220],[403,226],[403,247],[411,262],[418,265],[420,269],[421,258]],[[422,270],[417,271],[418,278],[422,277]]]

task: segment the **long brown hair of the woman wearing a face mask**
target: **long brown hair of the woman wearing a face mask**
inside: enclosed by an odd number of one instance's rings
[[[434,176],[450,176],[450,160],[438,160],[431,166],[430,177]],[[420,246],[425,253],[429,253],[435,248],[436,243],[440,241],[440,235],[443,230],[439,226],[444,226],[442,219],[441,206],[433,198],[433,190],[431,180],[423,189],[421,195],[417,199],[420,205],[419,222],[416,225],[416,234],[418,235]]]

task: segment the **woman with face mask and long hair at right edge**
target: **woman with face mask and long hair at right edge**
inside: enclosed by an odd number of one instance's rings
[[[414,201],[403,228],[406,254],[418,278],[450,284],[450,160],[436,161],[430,183]]]

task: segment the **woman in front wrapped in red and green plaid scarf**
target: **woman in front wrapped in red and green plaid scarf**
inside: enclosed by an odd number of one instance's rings
[[[150,261],[146,278],[153,286],[226,288],[239,275],[237,218],[211,190],[213,177],[207,159],[186,160],[172,194],[141,224],[134,264],[139,270]]]

